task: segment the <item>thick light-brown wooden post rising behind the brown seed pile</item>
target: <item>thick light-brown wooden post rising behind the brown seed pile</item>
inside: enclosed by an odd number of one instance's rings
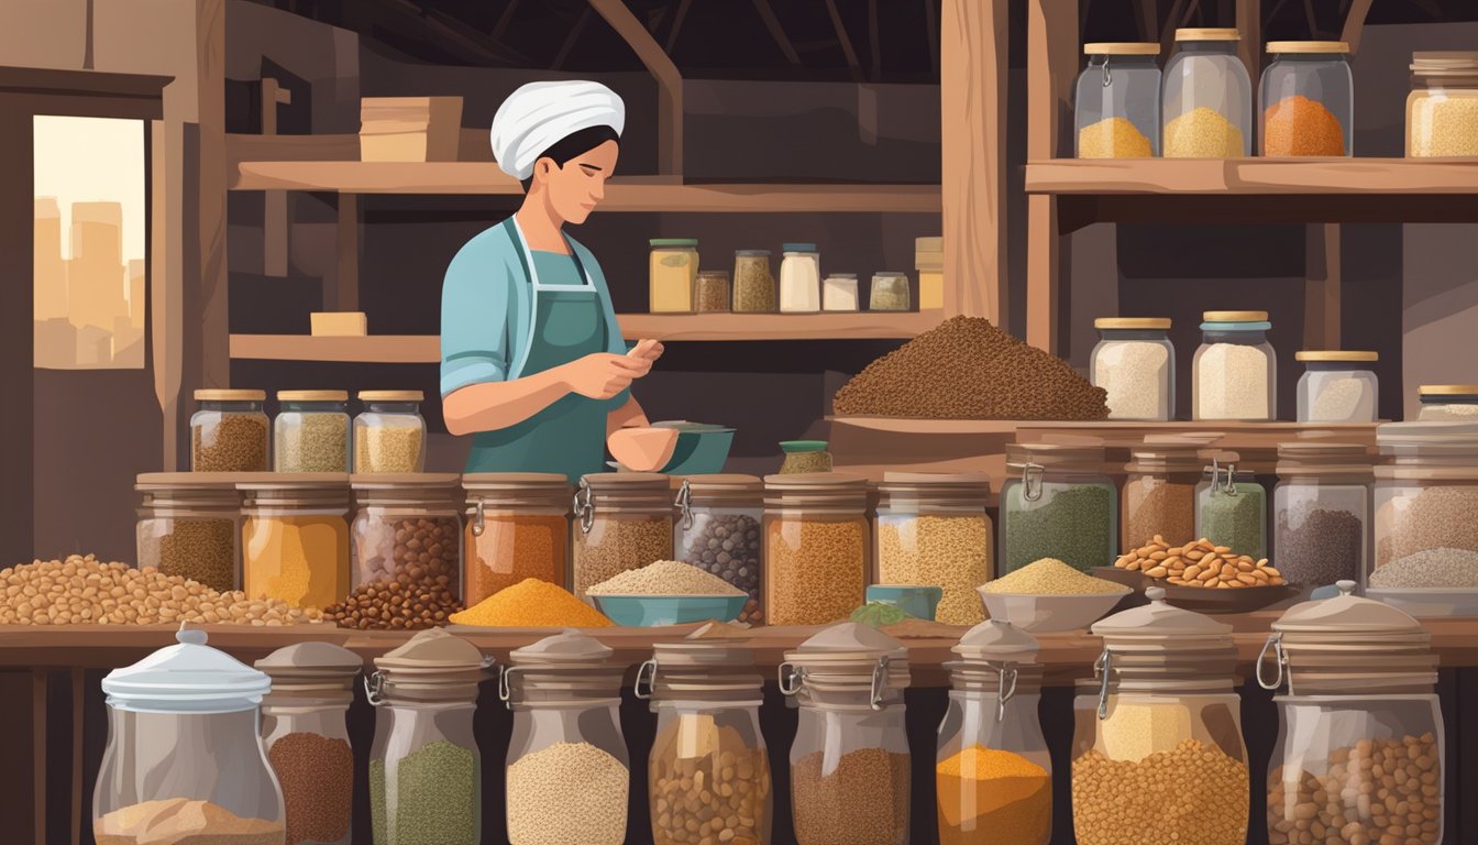
[[[1007,0],[946,0],[940,13],[944,315],[1005,327]]]

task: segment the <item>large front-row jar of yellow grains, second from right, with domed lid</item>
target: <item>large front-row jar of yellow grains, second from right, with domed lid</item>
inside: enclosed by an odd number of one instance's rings
[[[1082,845],[1243,845],[1250,787],[1231,626],[1171,607],[1163,588],[1144,592],[1147,605],[1092,626],[1104,648],[1075,703],[1073,833]]]

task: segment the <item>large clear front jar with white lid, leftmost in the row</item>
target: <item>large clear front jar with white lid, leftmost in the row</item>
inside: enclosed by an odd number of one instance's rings
[[[93,838],[157,842],[160,830],[220,844],[282,842],[282,790],[257,706],[266,675],[182,626],[161,648],[102,681],[108,746],[93,789]]]

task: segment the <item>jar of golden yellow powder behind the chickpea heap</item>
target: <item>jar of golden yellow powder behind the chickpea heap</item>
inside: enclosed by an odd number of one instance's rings
[[[349,477],[278,474],[236,485],[245,496],[241,589],[248,599],[327,608],[349,592]]]

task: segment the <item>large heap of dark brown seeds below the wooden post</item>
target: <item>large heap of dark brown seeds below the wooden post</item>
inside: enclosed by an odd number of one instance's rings
[[[980,317],[955,317],[868,364],[837,391],[838,414],[1101,420],[1107,394],[1073,367]]]

